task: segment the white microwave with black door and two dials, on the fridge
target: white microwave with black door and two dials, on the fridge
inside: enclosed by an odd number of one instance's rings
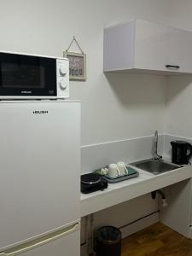
[[[0,52],[0,99],[69,97],[66,58]]]

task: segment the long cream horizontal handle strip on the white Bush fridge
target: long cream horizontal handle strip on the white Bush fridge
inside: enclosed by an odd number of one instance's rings
[[[16,256],[16,255],[19,255],[20,253],[26,253],[29,250],[35,249],[36,247],[41,247],[46,243],[55,241],[56,239],[59,239],[63,236],[67,236],[70,233],[73,233],[79,229],[80,229],[80,223],[73,224],[72,226],[69,226],[62,230],[55,231],[52,234],[42,236],[41,238],[35,239],[33,241],[28,241],[20,246],[16,246],[8,250],[5,250],[0,253],[0,256]]]

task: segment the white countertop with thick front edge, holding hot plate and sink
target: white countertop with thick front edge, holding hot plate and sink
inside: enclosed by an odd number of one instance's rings
[[[81,217],[192,177],[192,166],[159,175],[145,172],[135,166],[134,169],[139,172],[138,177],[119,183],[108,183],[108,189],[102,191],[81,194]]]

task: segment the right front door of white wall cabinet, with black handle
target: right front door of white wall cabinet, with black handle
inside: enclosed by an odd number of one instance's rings
[[[177,72],[181,73],[191,73],[192,32],[177,28],[172,29],[168,49],[167,69],[175,69]]]

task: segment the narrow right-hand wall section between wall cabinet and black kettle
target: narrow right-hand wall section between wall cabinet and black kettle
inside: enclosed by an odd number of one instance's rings
[[[192,76],[172,77],[167,84],[165,132],[192,138]]]

